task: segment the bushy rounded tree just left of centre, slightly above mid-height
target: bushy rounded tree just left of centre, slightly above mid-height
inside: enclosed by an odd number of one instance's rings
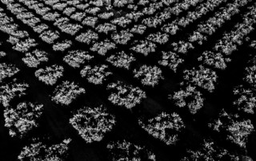
[[[86,77],[87,81],[93,84],[102,84],[107,78],[112,75],[107,65],[86,65],[81,70],[81,76]]]

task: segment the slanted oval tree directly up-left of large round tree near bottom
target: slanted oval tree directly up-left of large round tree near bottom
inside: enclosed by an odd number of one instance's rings
[[[77,84],[74,84],[74,82],[62,81],[62,83],[55,88],[51,100],[56,104],[69,105],[83,93],[86,93],[86,90],[80,88]]]

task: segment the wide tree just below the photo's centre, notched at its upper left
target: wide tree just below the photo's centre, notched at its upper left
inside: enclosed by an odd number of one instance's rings
[[[146,92],[138,87],[123,84],[121,81],[108,84],[106,89],[113,91],[108,98],[112,104],[125,106],[128,109],[140,104],[142,99],[146,98]]]

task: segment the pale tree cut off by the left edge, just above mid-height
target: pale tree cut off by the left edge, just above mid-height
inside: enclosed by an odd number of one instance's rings
[[[0,71],[0,82],[2,82],[7,77],[13,77],[19,72],[19,69],[11,64],[0,63]]]

